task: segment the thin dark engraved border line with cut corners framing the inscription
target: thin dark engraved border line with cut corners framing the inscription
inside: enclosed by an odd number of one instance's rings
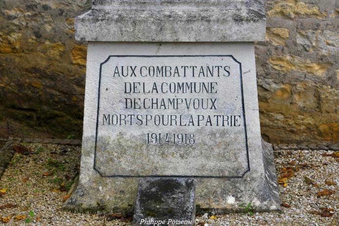
[[[240,70],[240,89],[241,89],[241,104],[242,104],[242,115],[244,117],[244,132],[245,132],[245,146],[246,146],[246,157],[247,157],[247,170],[241,176],[160,176],[160,175],[150,175],[150,176],[128,176],[128,175],[112,175],[112,176],[105,176],[103,175],[97,168],[96,168],[96,157],[97,157],[97,139],[98,139],[98,127],[99,127],[99,109],[100,109],[100,86],[101,86],[101,73],[102,67],[111,57],[230,57],[232,58],[238,65]],[[242,85],[242,69],[241,63],[235,59],[233,55],[109,55],[107,59],[100,64],[100,71],[99,71],[99,88],[98,88],[98,106],[97,106],[97,122],[96,122],[96,129],[95,129],[95,147],[94,147],[94,164],[93,169],[102,177],[185,177],[185,178],[243,178],[244,175],[251,170],[250,168],[250,159],[248,153],[248,142],[247,142],[247,128],[246,128],[246,117],[245,117],[245,104],[244,104],[244,92],[243,92],[243,85]]]

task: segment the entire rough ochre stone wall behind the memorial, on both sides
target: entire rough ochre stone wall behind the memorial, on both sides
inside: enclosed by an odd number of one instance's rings
[[[81,136],[86,47],[74,17],[89,3],[0,0],[0,137]],[[256,44],[262,135],[338,143],[338,3],[267,0],[266,12],[267,41]]]

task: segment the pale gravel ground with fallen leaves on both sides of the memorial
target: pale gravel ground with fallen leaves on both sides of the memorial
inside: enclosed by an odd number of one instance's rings
[[[103,226],[104,217],[61,211],[78,174],[80,148],[23,144],[0,180],[0,225]],[[339,225],[339,158],[333,151],[275,151],[281,213],[198,216],[200,226]],[[6,190],[7,188],[7,190]],[[33,217],[30,217],[29,213]],[[26,219],[24,219],[26,218]],[[27,218],[32,222],[26,223]],[[131,225],[129,216],[106,215],[106,226]]]

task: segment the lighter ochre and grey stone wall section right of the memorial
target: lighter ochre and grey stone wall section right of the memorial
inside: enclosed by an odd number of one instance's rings
[[[263,136],[338,144],[339,1],[267,0],[266,14],[267,41],[256,45]]]

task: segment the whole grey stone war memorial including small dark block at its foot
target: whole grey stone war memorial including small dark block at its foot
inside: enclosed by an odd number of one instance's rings
[[[75,19],[88,42],[84,124],[63,208],[134,212],[137,225],[280,210],[258,109],[265,20],[262,0],[93,0]]]

